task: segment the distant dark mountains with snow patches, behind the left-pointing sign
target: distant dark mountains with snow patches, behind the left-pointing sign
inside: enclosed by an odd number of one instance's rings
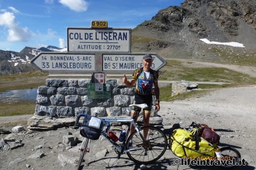
[[[30,60],[42,51],[63,52],[66,51],[66,48],[47,46],[36,49],[26,46],[20,53],[0,50],[0,76],[38,69],[30,63]]]

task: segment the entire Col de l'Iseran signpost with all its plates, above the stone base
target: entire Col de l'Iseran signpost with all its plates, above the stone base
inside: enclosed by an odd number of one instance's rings
[[[146,53],[131,53],[131,29],[108,28],[106,21],[91,21],[90,28],[67,28],[67,52],[42,52],[31,60],[48,78],[91,78],[104,72],[108,78],[121,77],[142,67]],[[159,70],[166,61],[156,53],[151,68]]]

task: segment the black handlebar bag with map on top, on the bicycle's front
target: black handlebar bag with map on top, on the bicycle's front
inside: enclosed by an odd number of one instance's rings
[[[80,134],[88,139],[97,140],[100,138],[104,122],[97,117],[87,115],[84,117]]]

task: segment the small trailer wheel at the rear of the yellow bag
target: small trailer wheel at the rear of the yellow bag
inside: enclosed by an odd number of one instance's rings
[[[231,147],[220,148],[220,152],[222,153],[223,160],[234,161],[233,164],[225,163],[224,165],[222,165],[225,168],[231,168],[235,166],[235,164],[238,163],[239,158],[241,158],[241,154],[239,153],[239,151]]]

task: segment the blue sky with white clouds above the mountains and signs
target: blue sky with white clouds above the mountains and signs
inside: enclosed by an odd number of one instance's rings
[[[20,52],[25,46],[66,47],[67,27],[135,28],[184,0],[0,0],[0,50]]]

